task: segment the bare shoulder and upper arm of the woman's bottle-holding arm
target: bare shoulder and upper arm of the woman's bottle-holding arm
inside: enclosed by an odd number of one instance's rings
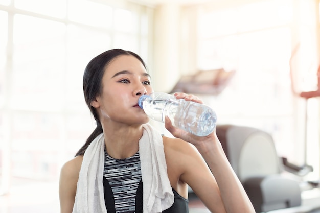
[[[188,198],[186,183],[211,212],[225,213],[218,184],[199,151],[176,138],[167,138],[164,145],[171,186]]]

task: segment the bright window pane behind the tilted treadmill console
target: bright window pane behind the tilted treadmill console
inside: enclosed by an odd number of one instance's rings
[[[288,78],[291,43],[287,39],[290,35],[290,30],[283,28],[202,43],[199,55],[205,69],[236,70],[233,84],[225,93],[228,97],[225,101],[231,102],[226,104],[221,100],[220,113],[250,116],[292,113],[292,96],[288,95],[291,94]],[[221,99],[223,97],[222,94]],[[254,104],[248,104],[252,103],[252,97],[255,97]],[[237,107],[232,103],[237,103]]]

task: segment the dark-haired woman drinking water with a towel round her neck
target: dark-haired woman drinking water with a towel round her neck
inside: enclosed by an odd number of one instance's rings
[[[97,128],[61,169],[61,213],[188,212],[188,185],[211,212],[255,212],[215,132],[197,137],[166,118],[169,138],[147,124],[137,103],[153,92],[150,82],[130,51],[109,50],[88,63],[83,89]]]

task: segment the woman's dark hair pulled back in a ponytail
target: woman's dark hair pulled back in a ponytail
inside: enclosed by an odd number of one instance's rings
[[[116,57],[121,55],[131,55],[137,58],[143,66],[146,68],[145,62],[142,58],[131,51],[125,51],[122,49],[112,49],[93,58],[88,65],[86,66],[83,74],[83,93],[86,104],[88,105],[91,113],[94,115],[94,118],[97,122],[97,127],[87,138],[85,144],[79,149],[76,156],[83,155],[85,150],[88,148],[90,143],[103,132],[102,125],[98,116],[96,109],[90,105],[90,103],[95,100],[99,94],[102,92],[102,77],[105,71],[106,66]],[[147,68],[146,68],[147,69]]]

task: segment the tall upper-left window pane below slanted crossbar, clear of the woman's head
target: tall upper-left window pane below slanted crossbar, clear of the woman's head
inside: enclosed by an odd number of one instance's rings
[[[65,26],[62,23],[16,15],[11,107],[59,110],[63,101]]]

